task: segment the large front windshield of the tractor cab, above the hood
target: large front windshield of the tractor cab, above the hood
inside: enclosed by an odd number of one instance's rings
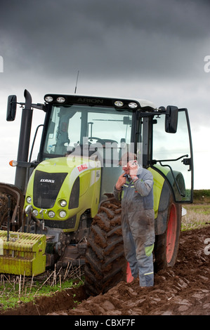
[[[122,147],[131,143],[132,112],[110,107],[53,106],[44,157],[60,157],[81,145]]]

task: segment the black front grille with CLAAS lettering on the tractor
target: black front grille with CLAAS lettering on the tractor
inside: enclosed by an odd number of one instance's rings
[[[37,170],[34,174],[33,200],[39,209],[51,209],[67,173],[48,173]]]

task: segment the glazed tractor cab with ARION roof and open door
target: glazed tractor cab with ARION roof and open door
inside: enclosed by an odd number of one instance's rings
[[[192,141],[187,109],[147,100],[47,94],[39,162],[53,157],[97,157],[101,196],[122,173],[119,160],[135,152],[146,168],[169,181],[176,202],[192,202]]]

